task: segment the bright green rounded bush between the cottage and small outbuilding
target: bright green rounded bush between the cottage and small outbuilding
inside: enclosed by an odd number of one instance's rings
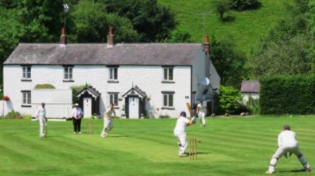
[[[236,114],[244,111],[244,105],[241,103],[242,95],[232,86],[220,86],[219,102],[221,109],[228,114]]]

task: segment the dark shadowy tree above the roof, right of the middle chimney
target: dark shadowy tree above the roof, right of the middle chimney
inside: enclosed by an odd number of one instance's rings
[[[169,37],[176,26],[174,14],[159,6],[156,0],[98,0],[108,13],[128,18],[134,29],[141,34],[141,41],[161,41]]]

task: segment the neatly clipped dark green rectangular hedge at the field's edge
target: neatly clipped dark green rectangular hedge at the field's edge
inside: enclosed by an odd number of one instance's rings
[[[261,114],[314,114],[315,75],[260,79]]]

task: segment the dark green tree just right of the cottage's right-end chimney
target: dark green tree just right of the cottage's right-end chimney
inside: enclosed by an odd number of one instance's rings
[[[210,59],[221,78],[221,85],[238,86],[245,74],[245,54],[235,50],[231,39],[210,41]]]

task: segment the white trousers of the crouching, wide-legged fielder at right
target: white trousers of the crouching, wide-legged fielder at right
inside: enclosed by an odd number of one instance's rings
[[[309,163],[307,163],[307,160],[304,158],[300,147],[297,145],[295,147],[279,147],[271,158],[269,171],[274,172],[278,159],[288,152],[295,154],[304,168],[309,168]]]

